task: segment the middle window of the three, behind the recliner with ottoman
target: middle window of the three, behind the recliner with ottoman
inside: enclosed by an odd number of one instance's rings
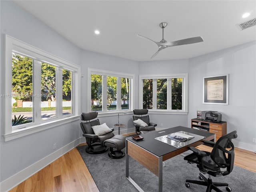
[[[134,75],[88,68],[88,111],[131,110]]]

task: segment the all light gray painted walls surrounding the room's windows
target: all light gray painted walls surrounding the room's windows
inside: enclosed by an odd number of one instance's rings
[[[87,111],[87,68],[98,68],[135,74],[135,108],[138,108],[138,75],[188,73],[189,97],[188,115],[150,114],[150,119],[163,128],[172,126],[190,126],[190,119],[195,118],[197,110],[216,110],[222,113],[228,122],[228,132],[238,131],[236,146],[255,150],[252,138],[256,138],[255,105],[255,42],[243,44],[219,52],[199,56],[190,60],[134,62],[94,52],[80,50],[62,36],[45,26],[42,22],[24,12],[13,2],[0,1],[1,8],[1,58],[3,56],[3,34],[18,38],[46,52],[81,66],[84,78],[81,78],[81,111]],[[4,63],[1,59],[1,65]],[[2,67],[2,66],[1,66]],[[229,105],[202,104],[202,78],[205,76],[230,74]],[[1,93],[3,80],[1,80]],[[2,119],[1,111],[1,119]],[[3,142],[3,124],[0,119],[0,182],[15,176],[20,171],[32,166],[57,149],[77,140],[82,135],[79,121],[44,130],[9,142]],[[133,128],[132,114],[120,116]],[[117,122],[117,116],[100,117],[108,126]],[[33,174],[33,173],[30,173]]]

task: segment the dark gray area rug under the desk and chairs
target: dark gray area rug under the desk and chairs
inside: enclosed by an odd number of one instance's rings
[[[136,188],[126,179],[125,157],[121,159],[111,159],[108,152],[103,154],[88,154],[85,152],[86,146],[77,147],[88,170],[90,171],[100,192],[137,192]],[[125,151],[125,148],[123,149]],[[186,188],[186,179],[199,180],[199,170],[192,167],[183,160],[184,152],[165,161],[163,168],[163,192],[205,192],[206,186],[190,184]],[[158,191],[158,177],[144,168],[141,164],[129,157],[130,177],[145,192]],[[195,165],[194,165],[195,166]],[[208,175],[206,175],[207,177]],[[213,182],[226,182],[232,188],[232,192],[255,192],[256,174],[248,170],[234,166],[233,171],[227,176],[212,177]],[[226,187],[220,187],[226,191]]]

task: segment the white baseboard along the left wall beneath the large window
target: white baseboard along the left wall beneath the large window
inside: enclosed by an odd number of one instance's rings
[[[66,146],[56,150],[52,154],[46,156],[45,158],[39,160],[38,162],[30,165],[29,167],[25,168],[24,170],[16,173],[15,175],[11,176],[10,178],[2,181],[0,183],[0,191],[7,192],[17,186],[18,184],[22,183],[24,180],[30,178],[30,176],[34,175],[36,172],[40,171],[42,168],[46,167],[50,163],[54,162],[59,157],[66,154],[68,151],[72,150],[80,143],[86,142],[85,138],[78,138],[73,142],[67,144]]]

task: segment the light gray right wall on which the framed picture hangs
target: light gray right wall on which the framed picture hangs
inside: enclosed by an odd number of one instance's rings
[[[237,131],[235,145],[256,151],[256,42],[249,42],[189,60],[189,113],[213,110],[222,114],[227,132]],[[229,74],[229,104],[203,104],[203,77]]]

